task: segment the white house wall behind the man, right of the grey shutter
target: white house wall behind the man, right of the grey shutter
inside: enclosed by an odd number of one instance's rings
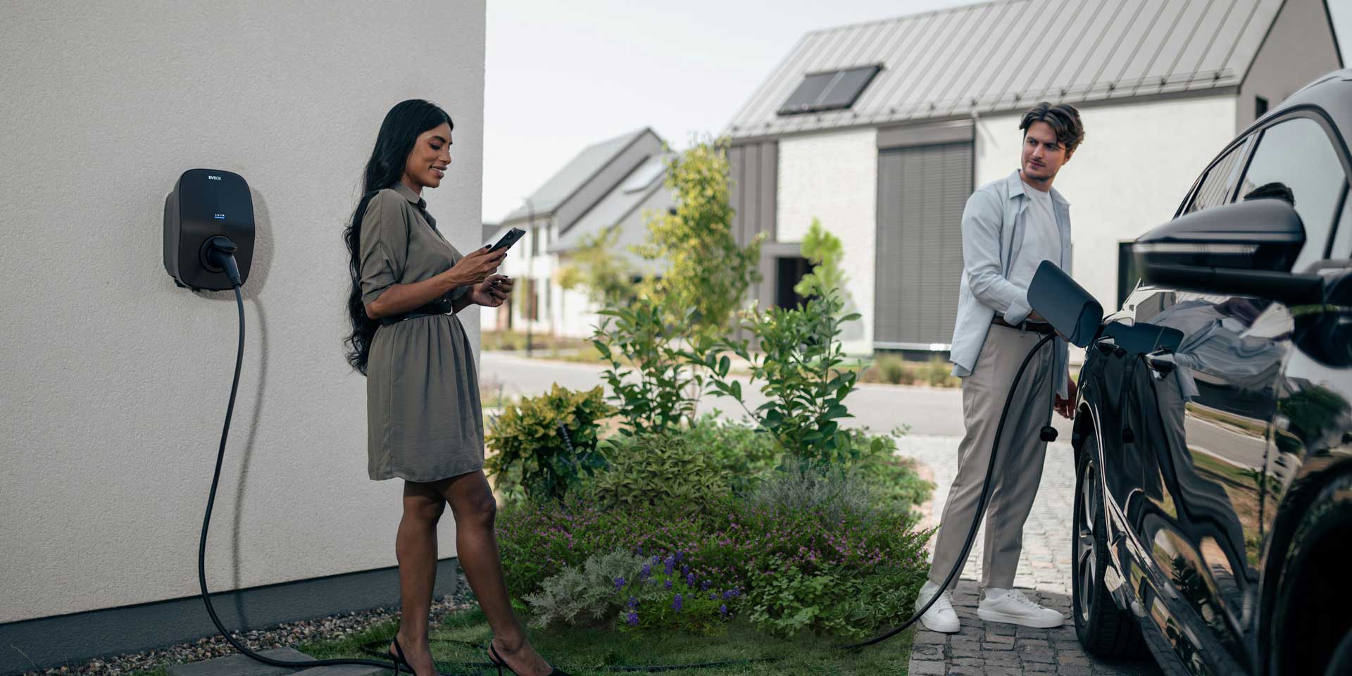
[[[1117,306],[1117,246],[1174,218],[1207,162],[1234,138],[1234,96],[1080,108],[1084,143],[1053,185],[1071,203],[1073,274]],[[1018,115],[983,118],[976,185],[1019,166]]]

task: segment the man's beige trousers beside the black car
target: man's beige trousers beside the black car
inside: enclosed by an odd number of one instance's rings
[[[972,375],[963,379],[963,422],[967,434],[957,446],[957,476],[948,492],[948,504],[944,506],[934,544],[934,562],[929,573],[934,584],[944,581],[963,553],[963,541],[982,498],[982,484],[991,462],[991,445],[995,442],[995,427],[1000,422],[1005,397],[1023,356],[1040,338],[1042,335],[1033,331],[992,324]],[[1046,442],[1041,441],[1040,434],[1046,425],[1055,393],[1051,383],[1052,350],[1052,343],[1044,345],[1029,361],[1000,434],[994,485],[986,508],[983,587],[1014,587],[1018,554],[1023,548],[1023,522],[1033,508],[1046,454]],[[960,576],[961,571],[955,576],[953,584]]]

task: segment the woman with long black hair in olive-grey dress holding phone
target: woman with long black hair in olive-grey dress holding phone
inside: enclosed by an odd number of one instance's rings
[[[506,250],[461,256],[426,211],[425,188],[450,166],[450,116],[423,100],[389,110],[346,230],[352,256],[347,361],[366,376],[368,473],[404,480],[395,538],[402,612],[395,664],[434,676],[427,615],[437,580],[437,522],[446,504],[469,587],[493,631],[489,658],[521,676],[562,675],[535,653],[512,614],[484,477],[484,430],[469,338],[456,316],[499,307],[512,283],[493,274]]]

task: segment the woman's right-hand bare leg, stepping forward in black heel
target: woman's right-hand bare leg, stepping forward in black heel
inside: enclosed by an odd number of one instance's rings
[[[442,496],[456,516],[456,553],[465,569],[469,588],[493,630],[493,646],[521,676],[545,676],[552,669],[526,639],[526,631],[511,610],[502,557],[493,537],[498,499],[483,470],[438,481]]]

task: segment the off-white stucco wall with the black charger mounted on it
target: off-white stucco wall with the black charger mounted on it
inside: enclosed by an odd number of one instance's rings
[[[395,565],[342,228],[385,112],[422,97],[456,120],[429,210],[479,243],[484,0],[11,4],[0,61],[0,622],[197,594],[237,312],[162,266],[192,168],[243,176],[258,233],[208,585]]]

